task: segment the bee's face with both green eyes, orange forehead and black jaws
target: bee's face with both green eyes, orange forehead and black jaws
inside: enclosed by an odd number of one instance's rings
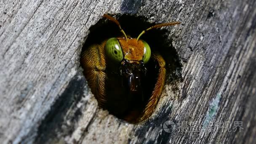
[[[141,79],[146,75],[146,64],[151,55],[149,45],[134,38],[110,38],[105,45],[105,53],[113,63],[120,64],[119,74],[122,77],[123,86],[129,89],[131,94],[141,93]]]

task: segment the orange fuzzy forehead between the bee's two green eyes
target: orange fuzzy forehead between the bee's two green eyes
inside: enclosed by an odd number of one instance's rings
[[[119,40],[120,46],[123,49],[124,58],[128,61],[141,61],[144,56],[144,44],[141,40],[136,40],[136,38],[117,38]]]

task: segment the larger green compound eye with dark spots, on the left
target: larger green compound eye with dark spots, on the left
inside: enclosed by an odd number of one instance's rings
[[[123,60],[122,48],[115,37],[107,40],[105,45],[105,53],[113,61],[121,62]]]

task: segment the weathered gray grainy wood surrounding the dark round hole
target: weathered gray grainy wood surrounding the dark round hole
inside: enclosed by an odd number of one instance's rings
[[[1,0],[1,143],[255,143],[255,7],[253,0]],[[182,22],[166,29],[184,80],[165,86],[149,122],[129,124],[98,109],[81,73],[88,28],[103,13]],[[241,121],[243,129],[167,133],[166,120]]]

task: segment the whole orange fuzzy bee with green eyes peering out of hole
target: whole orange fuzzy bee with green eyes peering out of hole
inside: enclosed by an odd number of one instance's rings
[[[122,37],[109,37],[88,46],[81,55],[85,78],[99,107],[130,123],[148,119],[157,105],[165,85],[165,60],[153,53],[140,37],[150,29],[180,24],[157,24],[129,37],[119,22],[107,14],[122,32]]]

